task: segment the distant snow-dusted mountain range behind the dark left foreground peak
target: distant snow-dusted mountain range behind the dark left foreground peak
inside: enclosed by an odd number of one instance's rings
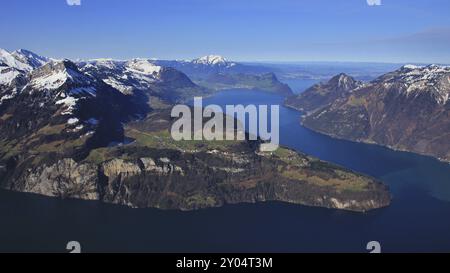
[[[52,60],[27,50],[0,51],[0,100],[17,93],[25,77]],[[80,72],[103,81],[123,94],[140,93],[165,102],[180,102],[194,95],[230,89],[258,89],[290,95],[289,86],[281,83],[269,68],[229,62],[221,56],[205,56],[192,61],[133,59],[129,61],[95,59],[74,62]],[[191,79],[195,79],[192,81]],[[136,94],[137,95],[137,94]]]

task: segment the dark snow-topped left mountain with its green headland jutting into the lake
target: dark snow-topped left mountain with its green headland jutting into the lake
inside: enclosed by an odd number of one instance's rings
[[[174,68],[134,59],[3,69],[23,77],[0,90],[14,90],[0,103],[3,189],[182,210],[277,200],[367,211],[390,203],[371,177],[286,148],[264,152],[259,140],[173,140],[167,107],[203,90]],[[154,107],[157,99],[166,107]]]

